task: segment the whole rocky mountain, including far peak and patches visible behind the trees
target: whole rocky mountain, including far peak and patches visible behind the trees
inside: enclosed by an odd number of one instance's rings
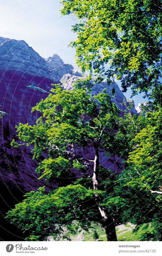
[[[64,64],[57,54],[44,59],[26,42],[4,37],[0,37],[0,63],[0,114],[3,115],[0,180],[10,189],[17,188],[24,192],[34,190],[43,186],[45,181],[37,179],[35,169],[38,163],[32,160],[29,147],[11,148],[12,139],[17,139],[15,125],[19,122],[35,123],[36,116],[31,114],[31,108],[48,96],[51,83],[60,82],[64,88],[71,90],[73,82],[83,76],[72,65]],[[116,83],[109,87],[105,82],[94,84],[91,94],[95,95],[104,88],[118,108],[124,110],[126,107],[122,103],[123,100],[126,102],[126,98]],[[114,97],[112,88],[115,88]],[[132,112],[136,112],[134,106]],[[112,156],[109,160],[105,157],[101,159],[104,167],[106,164],[113,171],[121,171],[121,160],[115,165],[112,164],[114,160],[116,162],[117,156]],[[54,187],[55,182],[48,184],[49,189]]]

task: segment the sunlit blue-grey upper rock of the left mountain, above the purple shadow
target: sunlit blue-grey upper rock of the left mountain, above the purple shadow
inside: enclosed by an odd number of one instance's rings
[[[47,77],[46,61],[23,40],[6,40],[0,37],[0,71],[15,74]]]

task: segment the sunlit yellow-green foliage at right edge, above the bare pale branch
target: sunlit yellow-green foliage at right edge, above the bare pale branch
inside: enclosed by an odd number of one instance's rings
[[[133,139],[134,146],[127,161],[132,175],[132,186],[133,183],[136,183],[145,190],[158,190],[160,185],[162,167],[161,114],[161,109],[146,113],[148,124]]]

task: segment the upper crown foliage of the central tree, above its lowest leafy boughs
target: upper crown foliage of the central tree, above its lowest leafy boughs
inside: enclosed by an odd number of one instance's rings
[[[51,91],[32,110],[41,113],[36,125],[20,123],[16,126],[18,137],[21,144],[32,145],[33,158],[39,159],[43,153],[48,153],[36,169],[41,173],[40,178],[66,177],[70,168],[86,174],[87,166],[83,165],[77,150],[98,138],[102,139],[102,147],[112,145],[115,137],[112,129],[118,123],[117,107],[105,91],[93,99],[86,88],[69,92],[56,85]],[[20,144],[13,140],[11,145]]]

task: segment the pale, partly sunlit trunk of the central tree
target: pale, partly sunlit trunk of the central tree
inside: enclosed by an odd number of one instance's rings
[[[94,143],[94,148],[95,148],[95,160],[94,160],[92,181],[93,181],[93,189],[98,190],[98,179],[97,179],[98,169],[99,169],[98,144]],[[111,215],[107,214],[105,207],[100,206],[101,198],[98,196],[98,194],[95,194],[95,202],[98,206],[98,209],[103,219],[103,226],[105,228],[107,241],[117,241],[114,220],[112,219]]]

